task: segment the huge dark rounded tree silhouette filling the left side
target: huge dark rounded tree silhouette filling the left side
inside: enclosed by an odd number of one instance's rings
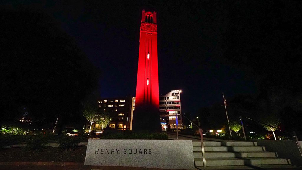
[[[24,110],[33,126],[52,127],[58,116],[62,124],[83,120],[80,102],[96,88],[98,71],[75,41],[40,12],[0,10],[0,21],[1,122]]]

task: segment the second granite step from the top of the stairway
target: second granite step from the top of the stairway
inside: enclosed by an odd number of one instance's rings
[[[193,146],[193,152],[201,152],[201,146]],[[204,146],[205,152],[221,151],[265,151],[264,146]]]

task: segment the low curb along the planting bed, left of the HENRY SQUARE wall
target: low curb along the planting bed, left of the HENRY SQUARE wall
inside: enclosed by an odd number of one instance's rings
[[[0,162],[0,165],[84,165],[84,162]]]

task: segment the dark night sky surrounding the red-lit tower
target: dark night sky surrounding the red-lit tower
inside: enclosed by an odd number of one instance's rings
[[[135,95],[141,11],[156,11],[159,93],[182,90],[183,112],[255,92],[248,74],[219,60],[220,33],[186,7],[149,1],[34,1],[6,8],[43,11],[58,21],[101,70],[101,97]],[[20,7],[21,6],[21,7]]]

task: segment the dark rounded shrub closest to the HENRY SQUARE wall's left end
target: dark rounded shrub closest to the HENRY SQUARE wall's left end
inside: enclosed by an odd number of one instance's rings
[[[81,142],[81,137],[61,135],[57,140],[59,147],[63,150],[76,149]]]

